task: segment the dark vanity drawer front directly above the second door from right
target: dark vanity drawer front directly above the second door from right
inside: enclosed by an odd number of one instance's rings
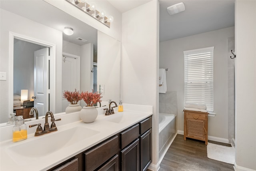
[[[121,149],[126,147],[132,141],[139,137],[139,124],[127,129],[120,133],[121,136]]]

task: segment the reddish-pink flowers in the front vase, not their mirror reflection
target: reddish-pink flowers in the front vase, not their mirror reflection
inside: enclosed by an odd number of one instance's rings
[[[86,92],[82,91],[82,93],[80,95],[81,95],[82,99],[84,100],[84,102],[87,104],[87,106],[93,106],[94,104],[101,102],[101,100],[100,100],[100,98],[102,97],[102,96],[100,96],[101,93],[100,94],[98,92],[94,93],[93,90],[90,93],[88,91],[86,91]]]

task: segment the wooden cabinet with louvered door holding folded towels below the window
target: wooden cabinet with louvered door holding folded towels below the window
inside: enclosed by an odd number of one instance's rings
[[[184,110],[184,140],[186,137],[205,141],[208,144],[207,112]]]

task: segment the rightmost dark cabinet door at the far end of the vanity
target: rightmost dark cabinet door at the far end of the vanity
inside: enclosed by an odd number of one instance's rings
[[[140,136],[140,170],[146,171],[152,162],[152,129]]]

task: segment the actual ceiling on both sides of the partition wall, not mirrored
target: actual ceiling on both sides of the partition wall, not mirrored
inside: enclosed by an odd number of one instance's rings
[[[126,12],[150,0],[108,0]],[[185,11],[170,16],[167,7],[183,2]],[[159,0],[160,42],[210,32],[235,25],[234,0]]]

